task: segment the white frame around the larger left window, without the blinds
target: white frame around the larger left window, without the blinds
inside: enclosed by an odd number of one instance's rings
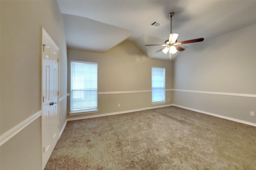
[[[90,108],[90,109],[71,110],[71,105],[72,105],[72,63],[97,64],[97,95],[96,95],[97,107]],[[97,111],[98,111],[98,63],[87,62],[87,61],[70,61],[70,113],[69,114],[76,115],[76,114],[84,114],[84,113],[93,113],[93,112],[97,112]]]

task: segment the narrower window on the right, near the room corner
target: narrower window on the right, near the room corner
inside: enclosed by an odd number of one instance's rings
[[[152,103],[165,102],[165,68],[152,67]]]

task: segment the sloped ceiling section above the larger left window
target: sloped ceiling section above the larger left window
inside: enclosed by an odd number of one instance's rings
[[[63,14],[67,46],[72,49],[106,52],[125,41],[133,31],[88,18]]]

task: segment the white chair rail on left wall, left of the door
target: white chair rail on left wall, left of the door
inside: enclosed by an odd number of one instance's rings
[[[26,118],[24,121],[20,122],[18,125],[12,127],[12,129],[6,131],[0,136],[0,146],[2,146],[4,143],[6,143],[9,139],[14,137],[17,133],[22,131],[25,127],[27,127],[30,123],[32,123],[34,120],[36,120],[39,116],[42,115],[42,111],[37,111],[30,117]]]

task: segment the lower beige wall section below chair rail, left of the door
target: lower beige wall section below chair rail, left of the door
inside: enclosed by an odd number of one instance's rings
[[[1,170],[41,170],[41,117],[1,146]]]

